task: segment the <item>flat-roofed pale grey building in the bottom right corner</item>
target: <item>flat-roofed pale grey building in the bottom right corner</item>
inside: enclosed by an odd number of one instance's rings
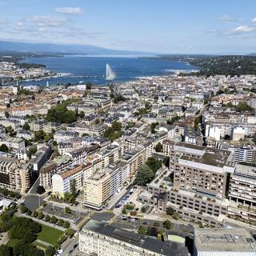
[[[256,242],[245,229],[195,229],[194,256],[255,256]]]

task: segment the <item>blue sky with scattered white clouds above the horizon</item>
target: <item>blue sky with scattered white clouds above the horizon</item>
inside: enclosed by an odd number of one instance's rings
[[[255,0],[0,0],[0,40],[162,54],[256,52]]]

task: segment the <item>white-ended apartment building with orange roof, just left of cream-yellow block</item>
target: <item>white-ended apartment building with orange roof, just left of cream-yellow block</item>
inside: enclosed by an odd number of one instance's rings
[[[52,177],[52,192],[62,198],[66,192],[71,192],[75,182],[76,190],[82,190],[83,182],[93,174],[93,164],[87,162],[76,166],[67,167],[66,170]]]

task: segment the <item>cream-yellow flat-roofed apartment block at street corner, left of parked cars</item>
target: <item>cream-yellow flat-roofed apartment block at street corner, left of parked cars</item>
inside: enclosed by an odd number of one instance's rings
[[[110,164],[84,182],[84,205],[101,210],[106,201],[130,180],[129,166],[124,162]]]

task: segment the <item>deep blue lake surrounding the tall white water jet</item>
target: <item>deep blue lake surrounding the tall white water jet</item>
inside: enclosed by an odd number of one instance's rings
[[[55,85],[58,83],[86,83],[106,85],[106,63],[114,70],[113,82],[126,82],[134,78],[167,74],[170,70],[196,70],[185,62],[170,62],[130,55],[65,55],[64,57],[26,58],[26,63],[46,65],[55,73],[69,73],[58,78],[26,81],[23,85]]]

